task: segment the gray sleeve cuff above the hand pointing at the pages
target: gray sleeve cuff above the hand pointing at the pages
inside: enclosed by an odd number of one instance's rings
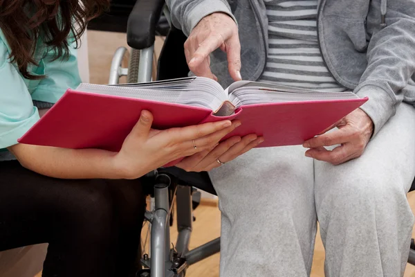
[[[235,19],[234,15],[232,15],[230,7],[225,2],[221,0],[202,1],[201,3],[195,5],[194,8],[192,8],[192,10],[187,12],[187,15],[185,15],[187,20],[185,21],[186,26],[183,28],[183,33],[185,33],[188,37],[193,28],[199,24],[199,21],[201,21],[203,17],[212,15],[214,12],[224,12],[232,17],[235,23],[237,22],[237,19]]]

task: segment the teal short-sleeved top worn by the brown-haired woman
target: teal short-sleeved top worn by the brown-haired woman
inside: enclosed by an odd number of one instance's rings
[[[30,65],[28,71],[46,75],[41,80],[24,78],[17,65],[10,62],[10,52],[0,29],[0,160],[6,156],[5,148],[17,144],[17,139],[39,120],[36,106],[55,103],[66,89],[74,89],[81,82],[73,44],[68,60],[53,60],[54,52],[39,39],[35,51],[38,65]]]

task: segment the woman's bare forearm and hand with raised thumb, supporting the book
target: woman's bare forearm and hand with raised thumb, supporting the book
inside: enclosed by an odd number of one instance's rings
[[[151,129],[152,122],[151,113],[142,111],[120,152],[21,143],[8,150],[25,168],[53,178],[136,179],[170,161],[213,149],[239,125],[238,121],[223,120],[158,131]],[[221,159],[227,161],[229,157]]]

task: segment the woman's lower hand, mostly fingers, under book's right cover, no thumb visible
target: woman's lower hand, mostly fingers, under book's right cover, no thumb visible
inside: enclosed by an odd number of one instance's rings
[[[210,150],[186,157],[180,163],[176,164],[176,166],[183,168],[187,172],[209,171],[221,166],[223,163],[232,161],[262,142],[264,142],[264,139],[261,136],[257,137],[256,134],[249,134],[242,139],[240,136],[233,136]]]

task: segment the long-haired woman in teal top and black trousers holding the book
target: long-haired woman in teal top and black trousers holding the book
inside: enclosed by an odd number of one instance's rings
[[[210,170],[261,141],[218,144],[239,125],[227,120],[154,130],[142,111],[120,152],[18,144],[80,83],[75,46],[85,20],[108,5],[0,0],[0,251],[47,242],[43,276],[133,274],[145,211],[137,179],[178,157],[187,157],[178,164],[185,170]]]

